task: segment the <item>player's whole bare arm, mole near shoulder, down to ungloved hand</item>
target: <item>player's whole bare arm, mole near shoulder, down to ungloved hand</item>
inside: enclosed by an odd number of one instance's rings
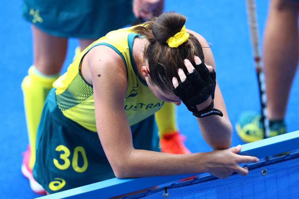
[[[217,177],[226,178],[233,171],[242,175],[248,173],[247,169],[241,168],[238,164],[255,162],[256,158],[236,155],[234,148],[188,155],[134,149],[124,109],[127,89],[124,63],[108,47],[99,47],[97,53],[90,57],[97,131],[116,177],[210,172]]]

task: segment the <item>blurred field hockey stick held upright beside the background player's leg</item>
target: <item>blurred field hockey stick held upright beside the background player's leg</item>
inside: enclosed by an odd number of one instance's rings
[[[254,52],[254,65],[259,81],[259,96],[261,103],[261,120],[263,122],[264,138],[270,137],[269,120],[267,118],[267,96],[265,76],[263,73],[263,63],[259,52],[259,32],[258,22],[256,17],[255,0],[246,0],[247,13],[249,20],[249,29],[251,35],[251,44]]]

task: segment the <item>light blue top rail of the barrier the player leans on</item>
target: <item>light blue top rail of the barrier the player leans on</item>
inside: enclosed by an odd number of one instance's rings
[[[296,150],[299,148],[299,131],[286,133],[276,137],[267,138],[260,141],[242,145],[240,155],[251,155],[258,158],[264,158],[276,155],[282,152]],[[128,192],[154,187],[164,183],[170,183],[179,179],[198,175],[199,178],[208,176],[204,174],[182,174],[173,176],[145,177],[118,179],[112,178],[98,183],[89,184],[82,187],[54,193],[48,196],[40,197],[40,199],[50,198],[108,198],[114,197]]]

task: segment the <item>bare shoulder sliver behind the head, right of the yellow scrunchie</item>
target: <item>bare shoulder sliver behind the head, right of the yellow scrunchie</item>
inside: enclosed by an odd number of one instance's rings
[[[195,32],[193,30],[187,29],[187,32],[192,33],[192,35],[194,35],[198,39],[199,43],[202,45],[203,54],[205,55],[205,63],[207,65],[212,66],[214,68],[214,70],[216,70],[214,56],[213,56],[212,50],[211,50],[208,42],[206,41],[206,39],[202,35],[198,34],[197,32]]]

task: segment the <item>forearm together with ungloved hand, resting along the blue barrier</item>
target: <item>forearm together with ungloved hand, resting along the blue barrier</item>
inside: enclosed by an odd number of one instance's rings
[[[248,173],[240,163],[258,162],[252,156],[237,155],[241,145],[226,150],[213,150],[205,153],[175,155],[147,150],[131,150],[129,155],[122,154],[118,168],[112,167],[117,178],[138,178],[177,174],[205,173],[218,178],[227,178],[233,172],[241,175]],[[123,156],[124,155],[124,156]],[[127,158],[123,158],[127,157]]]

